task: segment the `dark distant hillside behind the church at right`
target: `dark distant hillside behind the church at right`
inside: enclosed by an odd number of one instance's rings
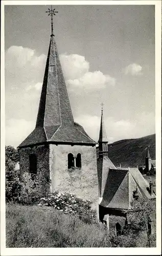
[[[150,146],[151,158],[155,159],[155,134],[108,144],[108,157],[115,166],[121,164],[122,167],[135,167],[137,164],[145,164],[147,146]]]

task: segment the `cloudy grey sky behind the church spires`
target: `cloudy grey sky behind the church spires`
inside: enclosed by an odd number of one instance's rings
[[[5,6],[6,145],[36,123],[51,19],[47,5]],[[54,34],[74,120],[98,141],[155,133],[153,5],[55,5]]]

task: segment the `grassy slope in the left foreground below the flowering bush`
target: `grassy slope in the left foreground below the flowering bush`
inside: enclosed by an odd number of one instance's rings
[[[110,247],[103,224],[86,224],[52,207],[6,206],[6,247]]]

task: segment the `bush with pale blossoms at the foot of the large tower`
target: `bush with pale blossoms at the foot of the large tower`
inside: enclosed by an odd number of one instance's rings
[[[41,198],[39,206],[52,206],[64,214],[78,215],[85,223],[96,222],[96,211],[91,209],[91,201],[83,200],[74,194],[55,191],[47,198]]]

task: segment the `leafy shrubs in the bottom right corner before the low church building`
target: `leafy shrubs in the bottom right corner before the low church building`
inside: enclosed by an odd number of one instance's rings
[[[114,244],[119,247],[155,247],[155,201],[138,198],[131,204],[131,210],[126,212],[128,224],[122,236],[114,238]],[[148,223],[151,223],[153,232],[149,232]]]

